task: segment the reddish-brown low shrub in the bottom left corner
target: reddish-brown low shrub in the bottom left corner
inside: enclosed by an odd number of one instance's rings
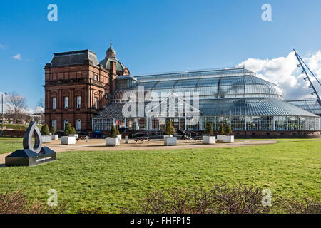
[[[30,204],[26,195],[18,190],[0,194],[0,214],[61,214],[66,212],[67,204],[62,202],[56,207],[49,207],[36,200]]]

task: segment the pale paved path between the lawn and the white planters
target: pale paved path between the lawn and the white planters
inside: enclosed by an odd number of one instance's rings
[[[118,147],[106,147],[104,139],[92,139],[89,142],[80,140],[76,145],[60,145],[60,140],[52,143],[44,143],[44,146],[51,148],[56,152],[66,151],[96,151],[96,150],[178,150],[178,149],[198,149],[198,148],[223,148],[223,147],[244,147],[253,145],[266,145],[277,143],[277,140],[235,140],[233,143],[217,142],[213,145],[204,145],[202,142],[194,142],[194,140],[178,140],[176,146],[164,146],[163,140],[151,140],[150,142],[134,142],[129,140],[125,144],[125,140],[121,140]],[[22,148],[22,142],[21,142]],[[10,153],[0,155],[0,166],[4,165],[4,158]]]

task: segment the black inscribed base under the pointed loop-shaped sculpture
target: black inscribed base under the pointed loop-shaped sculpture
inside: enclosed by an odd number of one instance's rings
[[[23,149],[6,156],[6,166],[34,166],[54,160],[56,160],[56,152],[48,147],[42,147],[39,154]]]

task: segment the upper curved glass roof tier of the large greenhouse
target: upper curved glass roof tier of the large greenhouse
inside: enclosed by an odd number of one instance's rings
[[[140,81],[137,78],[136,88],[144,86],[144,90],[154,93],[197,92],[202,99],[217,98],[283,98],[279,86],[255,76],[228,76],[213,78],[182,78],[167,81]],[[136,90],[131,88],[131,90]],[[122,93],[116,90],[114,99],[121,99]],[[161,95],[159,95],[161,97]]]

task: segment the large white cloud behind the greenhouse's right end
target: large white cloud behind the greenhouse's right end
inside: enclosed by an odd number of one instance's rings
[[[301,56],[303,58],[303,56]],[[311,71],[318,76],[318,80],[321,80],[321,50],[315,53],[308,53],[303,58],[305,63],[310,67]],[[308,88],[310,83],[304,81],[305,75],[302,75],[302,68],[297,68],[297,58],[294,52],[290,52],[286,57],[278,57],[272,59],[257,59],[248,58],[247,60],[239,63],[238,66],[245,66],[250,71],[257,73],[259,78],[263,78],[267,81],[280,86],[285,93],[286,100],[300,100],[305,98],[316,98],[312,96],[312,89]],[[313,76],[313,85],[320,93],[320,85],[315,81]]]

